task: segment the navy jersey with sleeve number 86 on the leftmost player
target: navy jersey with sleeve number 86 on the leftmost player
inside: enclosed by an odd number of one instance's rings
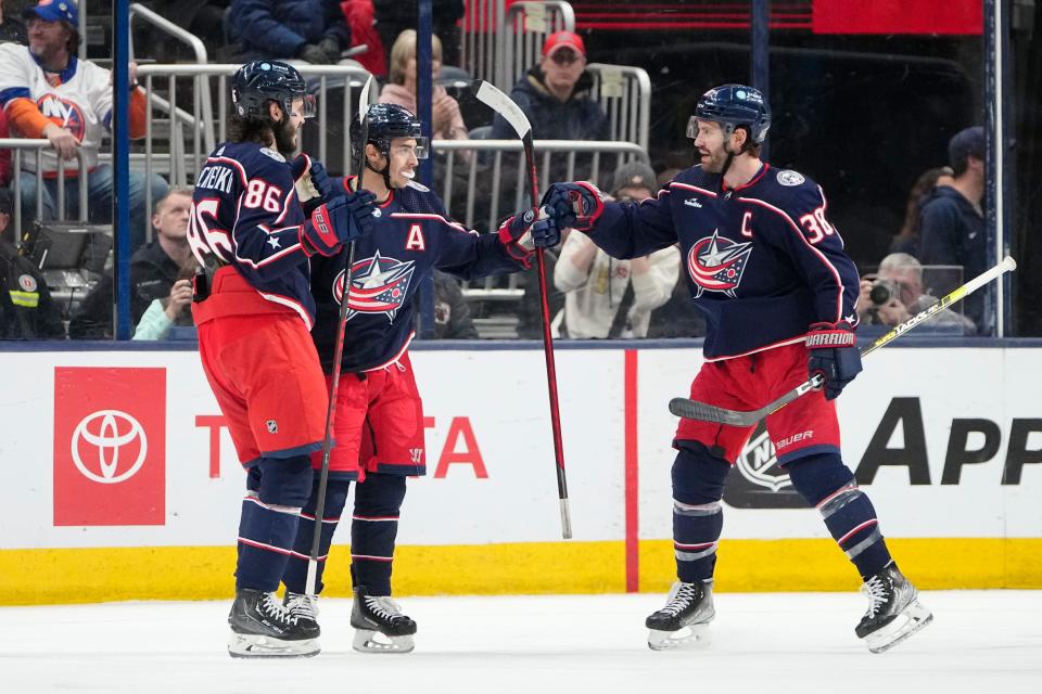
[[[262,297],[296,311],[312,330],[304,223],[282,155],[252,142],[226,142],[195,179],[188,242],[201,264],[211,255],[232,266]]]

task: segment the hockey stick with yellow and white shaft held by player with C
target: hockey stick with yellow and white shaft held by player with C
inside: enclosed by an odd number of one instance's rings
[[[966,297],[969,294],[973,294],[980,287],[984,286],[992,280],[1001,278],[1005,272],[1016,270],[1017,261],[1012,257],[1006,256],[1003,258],[1002,262],[995,267],[987,270],[961,287],[954,290],[951,294],[939,300],[937,304],[933,304],[925,311],[919,311],[908,320],[894,325],[885,335],[876,339],[867,347],[861,350],[862,357],[867,357],[872,352],[876,351],[880,347],[884,347],[898,337],[901,337],[906,332],[933,318],[937,313],[944,310],[955,301]],[[707,404],[706,402],[699,402],[697,400],[689,400],[687,398],[673,398],[670,400],[670,412],[676,416],[683,416],[688,420],[699,420],[702,422],[716,422],[717,424],[728,424],[730,426],[752,426],[763,417],[767,416],[773,412],[777,412],[789,402],[792,402],[797,398],[806,393],[810,393],[814,388],[821,386],[825,380],[821,374],[816,374],[813,378],[810,378],[800,385],[796,386],[793,389],[789,390],[780,398],[774,402],[768,402],[766,406],[760,408],[759,410],[753,410],[751,412],[742,412],[737,410],[726,410],[724,408],[713,407],[712,404]]]

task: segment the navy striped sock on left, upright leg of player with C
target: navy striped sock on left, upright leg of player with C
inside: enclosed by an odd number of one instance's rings
[[[673,551],[686,583],[713,577],[724,527],[720,500],[730,465],[701,444],[678,441],[673,461]]]

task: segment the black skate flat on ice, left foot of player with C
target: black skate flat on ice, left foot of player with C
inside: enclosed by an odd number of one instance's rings
[[[716,616],[713,608],[713,581],[684,583],[676,581],[665,599],[665,607],[645,620],[648,647],[669,651],[710,643],[709,622]]]

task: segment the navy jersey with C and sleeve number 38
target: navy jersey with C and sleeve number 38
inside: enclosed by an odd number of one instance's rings
[[[657,198],[607,204],[590,237],[617,258],[679,243],[710,360],[800,342],[811,323],[856,324],[857,269],[821,187],[767,164],[737,190],[720,178],[695,166]]]

